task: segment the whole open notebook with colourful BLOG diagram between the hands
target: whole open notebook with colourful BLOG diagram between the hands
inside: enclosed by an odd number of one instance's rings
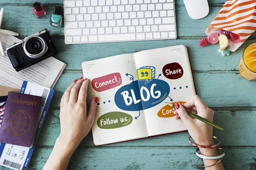
[[[157,48],[82,63],[87,98],[99,98],[93,142],[111,144],[187,130],[168,103],[195,95],[186,46]]]

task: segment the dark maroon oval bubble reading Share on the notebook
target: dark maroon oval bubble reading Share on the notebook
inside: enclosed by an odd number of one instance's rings
[[[167,79],[178,79],[183,76],[183,68],[177,62],[172,62],[163,66],[163,75]]]

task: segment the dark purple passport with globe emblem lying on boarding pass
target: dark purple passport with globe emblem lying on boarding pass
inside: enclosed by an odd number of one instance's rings
[[[42,97],[9,92],[0,142],[31,147]]]

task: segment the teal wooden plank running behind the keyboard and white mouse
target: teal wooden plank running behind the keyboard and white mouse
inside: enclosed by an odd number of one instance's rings
[[[17,4],[18,5],[18,4]],[[50,15],[54,13],[55,4],[44,6],[47,15],[37,19],[31,9],[30,4],[26,6],[4,6],[4,17],[2,29],[8,29],[20,34],[20,37],[26,37],[40,31],[43,28],[48,28],[52,31],[52,35],[64,36],[64,28],[55,28],[50,26]],[[216,16],[221,7],[210,7],[210,12],[207,17],[201,20],[193,20],[187,14],[185,6],[176,7],[176,20],[177,20],[177,35],[179,37],[206,37],[205,30]],[[17,17],[17,14],[22,17]],[[29,25],[28,25],[29,23]],[[254,34],[251,37],[255,37]],[[174,43],[176,40],[170,40]],[[199,41],[197,42],[197,44]],[[105,43],[104,43],[105,44]],[[144,42],[141,42],[144,44]],[[104,45],[102,45],[104,46]]]

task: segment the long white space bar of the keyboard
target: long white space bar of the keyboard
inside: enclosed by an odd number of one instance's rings
[[[99,42],[102,41],[127,41],[135,40],[135,34],[99,35]]]

